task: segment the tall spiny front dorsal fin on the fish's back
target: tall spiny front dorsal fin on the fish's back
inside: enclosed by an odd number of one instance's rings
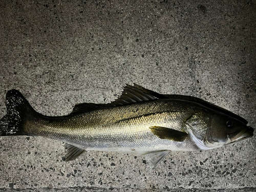
[[[130,86],[129,84],[126,84],[125,87],[123,88],[122,94],[119,96],[118,99],[111,102],[111,104],[123,105],[123,104],[136,103],[136,102],[142,102],[142,101],[157,100],[162,98],[166,98],[166,97],[154,91],[147,90],[141,86],[138,86],[137,84],[134,84],[134,86]]]

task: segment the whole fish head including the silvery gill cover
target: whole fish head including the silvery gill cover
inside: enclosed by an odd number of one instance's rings
[[[186,131],[202,150],[222,147],[253,136],[253,129],[238,115],[200,109],[186,119]],[[232,114],[234,117],[232,117]]]

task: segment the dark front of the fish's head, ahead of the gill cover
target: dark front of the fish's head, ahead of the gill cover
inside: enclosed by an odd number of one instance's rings
[[[223,113],[210,113],[208,128],[203,142],[206,147],[221,147],[243,141],[253,136],[247,121],[241,121]]]

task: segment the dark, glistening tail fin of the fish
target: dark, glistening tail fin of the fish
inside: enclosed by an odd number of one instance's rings
[[[24,123],[33,113],[36,113],[27,99],[13,89],[6,94],[7,114],[0,120],[0,136],[28,135]]]

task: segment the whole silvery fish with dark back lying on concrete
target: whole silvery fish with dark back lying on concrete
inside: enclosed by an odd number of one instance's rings
[[[185,97],[185,96],[184,96]],[[36,112],[17,90],[6,94],[0,136],[66,142],[66,161],[87,151],[150,154],[153,168],[171,151],[210,150],[253,136],[247,121],[203,100],[167,97],[137,84],[111,103],[81,103],[65,116]]]

